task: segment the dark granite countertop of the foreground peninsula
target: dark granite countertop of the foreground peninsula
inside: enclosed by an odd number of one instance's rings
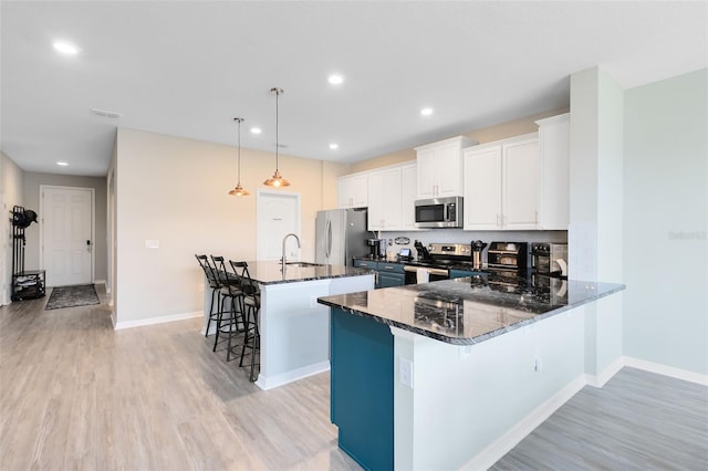
[[[543,275],[485,273],[317,301],[440,342],[472,345],[624,289]]]

